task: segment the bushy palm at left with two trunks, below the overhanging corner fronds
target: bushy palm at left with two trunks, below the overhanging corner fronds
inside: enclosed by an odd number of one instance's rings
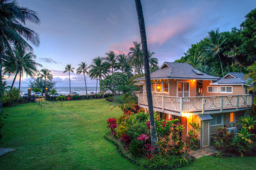
[[[18,44],[12,49],[13,56],[7,59],[4,69],[4,73],[9,74],[9,76],[11,76],[11,74],[15,74],[11,89],[13,88],[14,82],[18,74],[20,75],[20,79],[23,73],[26,73],[27,76],[29,75],[34,78],[34,76],[36,76],[36,73],[38,72],[36,67],[42,67],[41,64],[36,63],[36,55],[33,52],[28,52],[28,47]]]

